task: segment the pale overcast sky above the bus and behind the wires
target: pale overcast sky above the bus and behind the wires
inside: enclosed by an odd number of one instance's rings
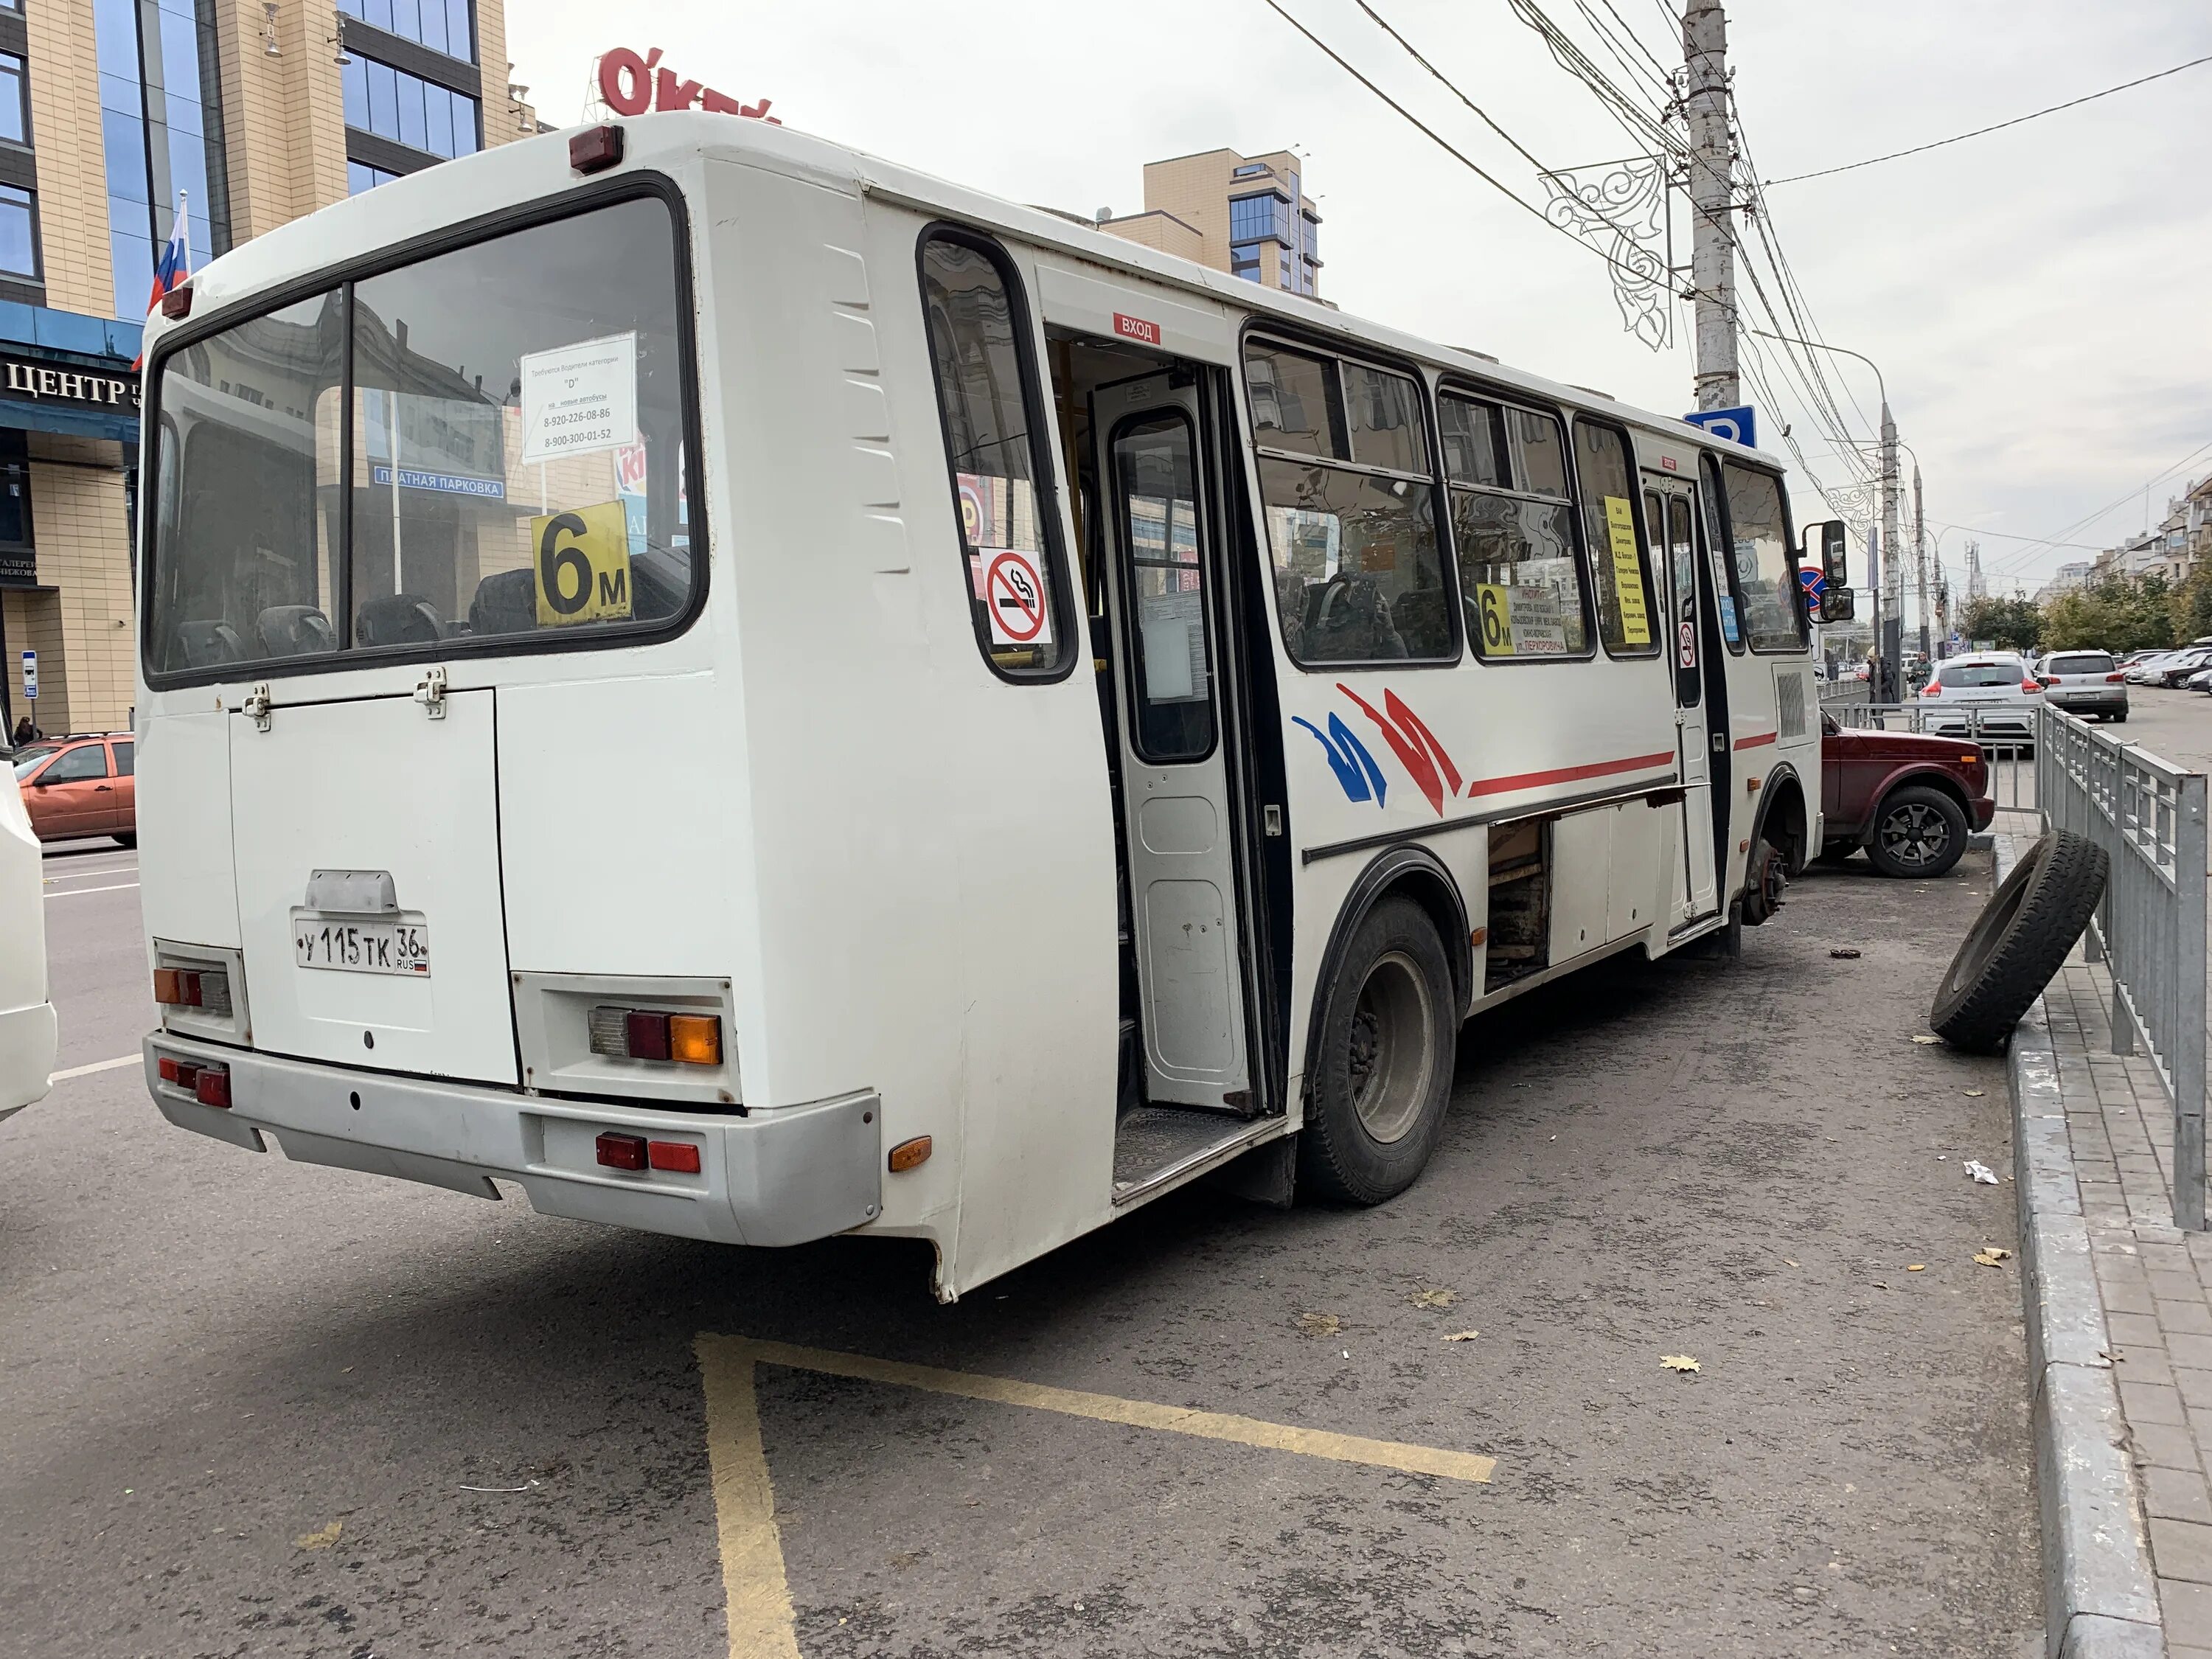
[[[1354,0],[1283,0],[1473,161],[1542,199],[1528,164]],[[1515,139],[1568,168],[1630,153],[1506,0],[1369,0]],[[1615,80],[1575,0],[1544,0]],[[1677,0],[1679,9],[1679,0]],[[1679,60],[1668,0],[1590,0]],[[1610,20],[1610,18],[1608,18]],[[1263,0],[511,0],[509,53],[542,119],[577,119],[593,58],[664,62],[790,126],[1018,201],[1144,206],[1141,164],[1230,146],[1310,155],[1323,292],[1630,403],[1688,409],[1690,352],[1624,332],[1606,265],[1462,168]],[[2212,53],[2203,0],[1761,0],[1730,9],[1743,135],[1767,179],[1922,144]],[[1772,234],[1814,323],[1880,363],[1931,529],[1982,531],[1993,588],[2143,524],[2143,484],[2212,445],[2212,64],[1929,155],[1776,186]],[[1686,215],[1677,210],[1688,261]],[[1741,276],[1739,276],[1741,281]],[[1772,283],[1772,279],[1767,279]],[[1770,288],[1772,292],[1772,288]],[[1683,336],[1688,330],[1679,330]],[[1778,352],[1781,347],[1767,347]],[[1829,372],[1871,440],[1874,376]],[[1865,411],[1865,422],[1860,420]],[[1812,469],[1834,434],[1783,394]],[[2150,487],[2152,520],[2212,449]],[[1911,462],[1907,460],[1907,480]],[[1798,518],[1818,498],[1794,484]],[[1940,553],[1964,571],[1966,533]]]

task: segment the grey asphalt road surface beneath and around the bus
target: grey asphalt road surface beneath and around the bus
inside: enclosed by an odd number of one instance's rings
[[[131,865],[46,860],[62,1066],[150,1020]],[[730,1332],[1498,1458],[761,1367],[810,1659],[2022,1659],[2017,1263],[1971,1261],[2013,1197],[1960,1168],[2011,1168],[2004,1071],[1909,1040],[1986,885],[1816,874],[1741,962],[1471,1024],[1396,1203],[1192,1190],[956,1307],[909,1245],[595,1230],[64,1079],[0,1126],[0,1652],[726,1655],[692,1343]]]

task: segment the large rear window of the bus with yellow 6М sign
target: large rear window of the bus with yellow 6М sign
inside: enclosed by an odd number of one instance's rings
[[[661,199],[619,199],[168,354],[148,677],[686,615],[675,230]]]

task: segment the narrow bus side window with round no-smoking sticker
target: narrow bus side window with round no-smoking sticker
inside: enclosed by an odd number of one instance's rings
[[[1009,679],[1057,677],[1075,659],[1073,613],[1020,285],[993,243],[936,228],[922,234],[922,310],[975,644]]]

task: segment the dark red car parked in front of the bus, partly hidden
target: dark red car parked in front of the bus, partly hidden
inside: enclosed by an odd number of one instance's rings
[[[1820,860],[1840,865],[1860,847],[1885,876],[1940,876],[1989,830],[1982,745],[1958,737],[1845,730],[1820,717]]]

